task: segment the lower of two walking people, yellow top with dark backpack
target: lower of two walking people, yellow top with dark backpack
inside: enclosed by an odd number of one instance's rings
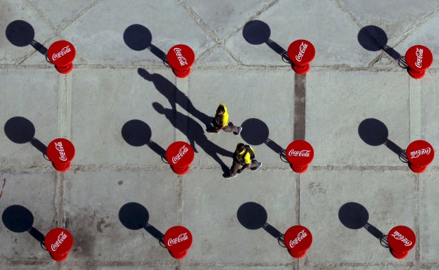
[[[235,177],[238,173],[248,168],[252,171],[256,171],[261,165],[262,162],[258,162],[254,159],[254,149],[250,147],[250,145],[238,143],[233,153],[233,164],[230,168],[230,174],[227,175],[226,178]],[[241,169],[239,169],[240,166],[242,166]]]

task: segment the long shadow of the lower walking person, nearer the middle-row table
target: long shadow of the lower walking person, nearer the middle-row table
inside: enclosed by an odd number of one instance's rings
[[[156,112],[158,112],[159,114],[165,115],[165,117],[169,120],[169,122],[171,122],[172,125],[174,125],[176,129],[180,130],[180,132],[187,136],[187,139],[189,140],[189,144],[193,148],[193,151],[198,153],[198,149],[197,147],[195,147],[196,143],[203,149],[204,152],[206,152],[206,154],[208,154],[216,162],[218,162],[224,172],[224,175],[229,173],[230,169],[227,167],[226,164],[224,164],[224,162],[221,160],[221,158],[219,158],[218,155],[231,158],[233,156],[233,152],[227,151],[226,149],[215,145],[215,143],[212,143],[206,137],[203,127],[197,121],[185,114],[182,114],[181,112],[163,108],[163,106],[157,102],[152,103],[152,107],[154,107],[154,110],[156,110]],[[179,119],[179,123],[176,122],[176,119]],[[181,125],[181,123],[187,123],[187,126],[183,126]]]

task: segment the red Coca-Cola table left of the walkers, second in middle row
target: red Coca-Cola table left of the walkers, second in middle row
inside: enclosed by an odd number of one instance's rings
[[[177,141],[166,149],[166,159],[174,173],[183,175],[189,171],[195,152],[189,143]]]

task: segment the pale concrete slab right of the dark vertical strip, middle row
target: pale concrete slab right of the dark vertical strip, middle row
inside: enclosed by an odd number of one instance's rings
[[[306,84],[313,165],[405,165],[382,143],[385,134],[401,149],[410,143],[407,73],[312,72]],[[366,119],[375,120],[364,125]]]

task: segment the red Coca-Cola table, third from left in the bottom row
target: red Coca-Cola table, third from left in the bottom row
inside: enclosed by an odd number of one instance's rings
[[[287,246],[289,254],[296,259],[300,259],[313,243],[313,236],[306,227],[296,225],[289,228],[283,236],[283,242]]]

